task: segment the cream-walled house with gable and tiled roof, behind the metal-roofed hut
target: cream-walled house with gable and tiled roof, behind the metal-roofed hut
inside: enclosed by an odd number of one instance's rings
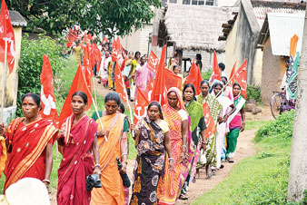
[[[302,13],[305,6],[301,0],[242,0],[239,13],[224,22],[223,35],[219,36],[220,41],[226,42],[226,73],[231,72],[233,63],[237,61],[239,66],[247,58],[247,83],[261,86],[263,54],[257,44],[266,15]]]

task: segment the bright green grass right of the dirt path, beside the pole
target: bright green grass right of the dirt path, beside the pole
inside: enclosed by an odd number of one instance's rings
[[[273,123],[247,122],[246,129]],[[292,139],[280,134],[255,142],[257,154],[236,164],[226,180],[193,201],[194,205],[287,203]]]

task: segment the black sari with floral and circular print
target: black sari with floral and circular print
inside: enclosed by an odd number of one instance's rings
[[[157,204],[158,181],[161,181],[164,172],[164,133],[148,116],[138,122],[137,128],[134,136],[137,156],[130,205],[153,205]]]

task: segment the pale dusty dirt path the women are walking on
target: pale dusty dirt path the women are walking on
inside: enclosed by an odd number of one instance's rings
[[[101,84],[97,83],[98,79],[94,79],[94,85],[97,91],[97,94],[105,96],[107,93],[111,92],[108,89],[105,89]],[[131,103],[131,106],[134,106],[134,103]],[[253,115],[250,112],[246,113],[246,121],[269,121],[272,120],[272,114],[269,106],[261,106],[262,112],[257,115]],[[224,168],[220,171],[217,171],[216,175],[213,176],[210,180],[205,179],[205,172],[201,170],[201,176],[196,180],[195,183],[190,183],[189,192],[187,196],[189,200],[178,200],[176,205],[191,204],[193,200],[196,200],[200,195],[207,192],[208,190],[213,189],[218,183],[225,179],[230,171],[232,171],[233,166],[239,161],[242,161],[245,158],[253,156],[256,151],[253,146],[254,133],[257,130],[244,131],[240,134],[238,139],[237,149],[235,151],[234,163],[223,162]],[[128,162],[128,175],[132,180],[134,170],[134,160],[129,160]],[[56,204],[56,190],[51,190],[51,204]],[[131,190],[130,190],[131,193]]]

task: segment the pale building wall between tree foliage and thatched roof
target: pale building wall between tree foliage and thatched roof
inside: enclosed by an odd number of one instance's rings
[[[139,51],[142,55],[148,52],[149,34],[153,32],[153,24],[146,24],[144,28],[134,31],[134,33],[124,36],[120,41],[124,49],[128,51]],[[151,45],[149,50],[151,49]]]

